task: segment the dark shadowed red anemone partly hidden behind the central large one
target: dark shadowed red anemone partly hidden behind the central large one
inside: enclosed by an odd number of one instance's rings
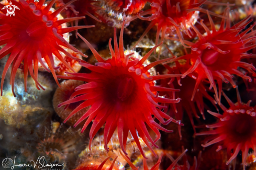
[[[175,62],[175,66],[170,67],[167,64],[164,64],[164,67],[168,70],[168,74],[184,74],[189,68],[190,64],[189,62],[186,62],[185,64],[180,64],[179,62]],[[194,132],[196,132],[195,124],[193,120],[193,116],[197,119],[200,117],[197,115],[197,110],[195,107],[195,104],[203,116],[203,119],[205,119],[204,116],[204,101],[203,97],[207,98],[212,104],[215,106],[217,103],[216,101],[206,92],[206,89],[203,84],[200,84],[197,87],[197,92],[195,93],[194,99],[192,100],[193,95],[193,86],[196,84],[196,75],[193,75],[193,73],[188,74],[185,78],[181,77],[172,77],[172,78],[165,78],[160,81],[160,85],[162,87],[169,87],[173,88],[173,92],[160,92],[161,96],[164,96],[166,98],[174,99],[175,97],[179,97],[182,100],[177,104],[170,104],[170,107],[166,108],[164,112],[168,112],[168,109],[171,108],[170,114],[171,116],[174,115],[177,120],[181,120],[183,118],[183,112],[184,110],[187,112],[188,117],[190,118],[192,127],[194,129]],[[192,116],[193,115],[193,116]],[[180,138],[182,138],[181,134],[181,126],[179,126],[179,134]]]

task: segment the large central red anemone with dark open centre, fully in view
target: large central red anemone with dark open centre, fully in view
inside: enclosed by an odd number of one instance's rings
[[[176,122],[176,120],[173,120],[170,116],[164,114],[164,112],[160,110],[161,108],[166,108],[166,106],[161,106],[158,103],[178,103],[180,101],[180,98],[168,99],[159,96],[157,92],[168,91],[170,89],[155,86],[154,81],[162,78],[182,76],[182,74],[150,75],[148,70],[151,67],[170,59],[156,61],[147,66],[143,66],[144,61],[146,61],[149,55],[162,43],[151,49],[140,61],[136,58],[129,58],[130,54],[125,55],[123,43],[124,25],[125,22],[123,23],[120,33],[119,48],[115,28],[115,49],[112,49],[110,39],[109,49],[112,54],[112,59],[106,61],[101,58],[86,39],[79,35],[91,49],[98,63],[94,66],[87,62],[80,62],[82,66],[91,70],[90,74],[68,73],[71,76],[58,76],[60,78],[87,82],[86,84],[76,87],[70,100],[60,104],[59,107],[84,100],[80,106],[72,111],[64,122],[77,111],[92,105],[92,107],[85,112],[74,125],[77,126],[77,124],[88,117],[82,128],[83,132],[88,124],[94,120],[90,130],[90,143],[96,132],[106,122],[104,129],[104,146],[106,150],[108,150],[107,143],[111,139],[115,129],[118,127],[118,139],[123,152],[126,153],[126,141],[128,132],[130,131],[140,152],[145,157],[138,139],[138,134],[148,148],[154,153],[151,144],[158,147],[155,144],[155,142],[160,139],[160,132],[158,129],[165,132],[172,132],[172,130],[166,130],[161,127],[154,121],[152,115],[154,115],[162,124],[168,124],[171,121]],[[164,119],[167,119],[167,121],[164,121]],[[148,126],[157,134],[157,138],[154,141],[150,137],[145,124],[148,124]]]

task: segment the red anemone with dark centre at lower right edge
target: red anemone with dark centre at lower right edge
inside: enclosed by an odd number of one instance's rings
[[[256,113],[255,107],[250,106],[251,100],[247,104],[243,104],[238,92],[237,87],[237,99],[238,102],[233,104],[232,101],[223,93],[224,97],[228,101],[230,108],[220,104],[224,114],[220,115],[215,112],[208,111],[211,115],[217,117],[219,122],[206,126],[207,128],[215,128],[214,130],[200,132],[197,135],[214,134],[213,140],[202,144],[207,147],[209,145],[219,143],[218,149],[227,148],[227,153],[232,156],[229,158],[227,165],[238,155],[239,151],[242,151],[242,164],[245,169],[246,159],[249,149],[256,150]],[[255,152],[254,152],[255,153]]]

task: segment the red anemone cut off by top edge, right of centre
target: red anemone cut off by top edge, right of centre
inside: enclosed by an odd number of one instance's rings
[[[199,8],[203,4],[211,4],[207,2],[207,0],[203,0],[201,2],[195,0],[155,0],[152,1],[151,9],[148,9],[142,13],[138,13],[137,17],[142,20],[151,21],[148,28],[144,31],[143,35],[140,37],[138,42],[134,47],[142,40],[142,38],[148,33],[148,31],[155,25],[157,28],[157,39],[155,40],[155,44],[158,44],[160,31],[161,41],[163,41],[165,37],[165,32],[167,29],[176,30],[177,36],[179,36],[181,43],[184,47],[187,47],[182,40],[182,35],[180,29],[184,29],[186,34],[191,37],[190,31],[188,28],[190,25],[195,24],[198,17],[198,12],[206,12],[205,9]],[[214,3],[215,5],[223,5],[221,3]],[[227,5],[227,4],[225,4]],[[212,15],[219,16],[215,13],[210,12]],[[143,15],[152,14],[150,17],[142,17]],[[221,17],[221,16],[220,16]],[[188,48],[188,47],[187,47]],[[161,48],[159,55],[161,53]]]

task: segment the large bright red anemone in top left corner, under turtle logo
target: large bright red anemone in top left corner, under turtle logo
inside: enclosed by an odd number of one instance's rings
[[[21,62],[24,64],[25,91],[27,91],[28,71],[31,77],[34,79],[36,87],[38,89],[43,89],[43,87],[37,81],[39,63],[48,72],[52,72],[55,81],[59,85],[57,76],[54,72],[54,70],[58,69],[58,67],[54,66],[52,54],[57,56],[57,58],[63,62],[63,64],[73,71],[72,67],[66,63],[61,56],[60,51],[70,58],[74,57],[66,52],[61,46],[69,48],[75,52],[79,51],[64,40],[63,34],[76,29],[91,28],[94,26],[61,28],[61,24],[65,22],[84,17],[58,20],[56,16],[61,12],[61,10],[72,2],[62,6],[52,13],[50,12],[50,9],[54,2],[55,1],[53,0],[49,3],[49,5],[43,6],[44,0],[40,0],[39,2],[34,2],[34,0],[20,0],[19,2],[13,1],[13,4],[20,8],[20,10],[15,10],[16,15],[13,17],[7,17],[5,14],[3,14],[6,13],[6,9],[1,10],[3,13],[0,14],[0,44],[6,45],[0,50],[0,59],[10,53],[2,75],[1,95],[3,94],[3,85],[6,72],[12,63],[13,66],[10,84],[12,84],[14,96],[16,96],[14,93],[15,75]],[[0,8],[3,7],[4,5],[0,4]],[[44,58],[44,60],[47,62],[49,69],[42,62],[42,58]],[[35,70],[35,73],[33,70]]]

